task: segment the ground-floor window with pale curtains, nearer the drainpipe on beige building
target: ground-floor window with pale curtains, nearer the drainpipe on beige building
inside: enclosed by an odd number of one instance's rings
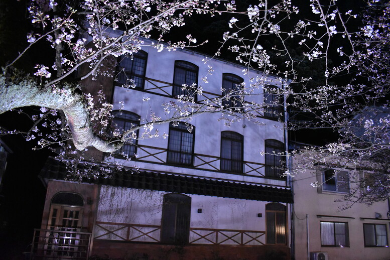
[[[349,246],[348,223],[321,221],[321,245]]]

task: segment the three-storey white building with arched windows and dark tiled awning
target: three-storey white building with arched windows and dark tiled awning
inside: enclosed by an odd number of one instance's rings
[[[114,122],[128,129],[145,123],[150,111],[165,116],[162,104],[192,94],[182,84],[200,84],[207,65],[214,72],[195,97],[199,103],[221,96],[221,88],[235,90],[241,82],[249,85],[249,76],[261,76],[255,71],[243,76],[245,67],[217,59],[205,65],[203,58],[186,50],[159,53],[143,47],[134,59],[119,60],[116,81],[104,77],[85,84],[87,89],[103,84],[114,105]],[[135,88],[122,87],[127,79]],[[276,79],[273,85],[282,87]],[[284,157],[272,155],[286,151],[283,122],[278,121],[284,120],[285,109],[276,105],[283,96],[271,87],[268,93],[256,91],[259,95],[245,101],[263,102],[264,94],[266,102],[275,103],[259,112],[259,124],[244,119],[227,127],[218,120],[220,113],[206,113],[188,122],[191,131],[184,122],[159,125],[167,139],[123,146],[134,159],[126,166],[134,171],[78,184],[63,181],[64,165],[49,159],[41,173],[47,195],[33,259],[290,259],[292,194],[279,168]],[[153,102],[143,102],[149,97]],[[222,104],[238,102],[231,98]]]

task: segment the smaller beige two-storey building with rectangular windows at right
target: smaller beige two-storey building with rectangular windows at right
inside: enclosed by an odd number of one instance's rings
[[[293,168],[302,165],[302,160],[295,158]],[[364,187],[356,187],[365,174],[369,174],[367,169],[318,165],[293,178],[295,259],[389,259],[387,201],[370,206],[355,203],[346,209],[345,202],[337,202],[352,190],[365,192]],[[318,188],[311,186],[315,182]]]

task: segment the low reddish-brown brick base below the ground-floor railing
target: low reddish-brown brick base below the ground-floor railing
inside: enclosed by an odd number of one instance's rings
[[[141,259],[148,254],[148,260],[273,260],[290,259],[290,248],[279,245],[187,245],[178,247],[164,244],[131,243],[124,241],[93,241],[91,255],[109,259]],[[285,254],[284,258],[280,255]],[[220,257],[220,258],[218,258]]]

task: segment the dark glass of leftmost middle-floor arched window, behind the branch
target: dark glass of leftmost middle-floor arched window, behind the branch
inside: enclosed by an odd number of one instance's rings
[[[114,118],[112,119],[112,122],[114,128],[119,131],[120,134],[140,125],[140,116],[138,114],[128,111],[113,111],[113,115]],[[118,157],[125,155],[133,157],[137,154],[137,137],[138,130],[133,135],[128,136],[126,143],[117,151]]]

